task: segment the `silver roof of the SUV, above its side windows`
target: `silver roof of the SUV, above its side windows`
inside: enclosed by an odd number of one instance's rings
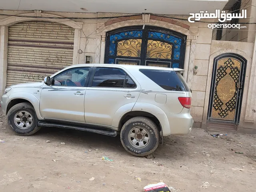
[[[125,69],[156,69],[156,70],[174,70],[174,71],[183,71],[183,69],[179,68],[165,68],[165,67],[157,67],[157,66],[143,66],[143,65],[121,65],[121,64],[76,64],[69,66],[68,68],[73,67],[86,67],[86,66],[108,66],[108,67],[122,67]]]

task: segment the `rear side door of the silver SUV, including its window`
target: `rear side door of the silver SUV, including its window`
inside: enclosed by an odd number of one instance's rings
[[[131,111],[140,95],[140,84],[122,68],[95,67],[86,90],[86,123],[111,126],[118,109]]]

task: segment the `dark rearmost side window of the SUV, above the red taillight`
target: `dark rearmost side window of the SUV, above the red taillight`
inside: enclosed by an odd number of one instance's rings
[[[169,70],[140,69],[144,75],[168,91],[190,91],[182,75]],[[179,77],[180,76],[180,77]],[[183,82],[182,82],[183,81]]]

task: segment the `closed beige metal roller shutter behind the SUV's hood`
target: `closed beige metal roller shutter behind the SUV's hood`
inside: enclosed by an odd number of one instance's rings
[[[52,22],[9,27],[7,86],[42,81],[72,65],[74,29]]]

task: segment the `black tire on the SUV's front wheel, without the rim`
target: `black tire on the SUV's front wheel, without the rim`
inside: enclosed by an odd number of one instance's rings
[[[32,115],[33,118],[33,122],[31,124],[31,126],[27,129],[21,129],[19,128],[15,122],[14,122],[14,116],[21,111],[27,111]],[[38,132],[40,130],[41,127],[37,126],[37,116],[36,116],[36,112],[34,110],[34,107],[30,104],[30,103],[19,103],[14,105],[12,108],[10,108],[10,110],[8,111],[7,114],[7,121],[8,121],[8,126],[14,131],[16,132],[16,134],[18,135],[22,135],[22,136],[28,136],[28,135],[32,135],[36,132]]]

